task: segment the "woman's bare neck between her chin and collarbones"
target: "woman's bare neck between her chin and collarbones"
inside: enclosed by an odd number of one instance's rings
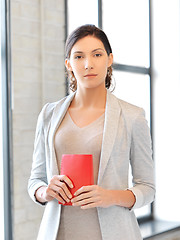
[[[105,108],[106,93],[106,88],[78,88],[72,104],[78,108]]]

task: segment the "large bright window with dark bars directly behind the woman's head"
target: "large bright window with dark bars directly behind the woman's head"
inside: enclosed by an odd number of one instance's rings
[[[67,33],[87,23],[105,31],[114,54],[114,94],[144,108],[151,126],[150,1],[88,2],[68,0]],[[136,210],[136,215],[150,218],[151,205]]]

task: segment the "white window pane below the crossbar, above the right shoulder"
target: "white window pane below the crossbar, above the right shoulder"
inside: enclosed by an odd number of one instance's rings
[[[142,107],[150,125],[150,79],[149,75],[113,71],[114,94],[124,101]]]

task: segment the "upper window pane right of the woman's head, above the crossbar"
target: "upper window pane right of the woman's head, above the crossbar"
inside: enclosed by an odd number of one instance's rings
[[[149,1],[103,1],[103,29],[114,61],[149,67]]]

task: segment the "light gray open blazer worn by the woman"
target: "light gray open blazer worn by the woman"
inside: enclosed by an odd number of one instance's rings
[[[38,118],[34,143],[33,165],[28,184],[31,198],[35,191],[47,185],[59,174],[54,136],[74,97],[46,104]],[[133,187],[129,188],[129,163]],[[151,137],[144,111],[116,98],[107,91],[105,125],[99,166],[98,185],[105,189],[130,189],[136,202],[131,210],[120,206],[97,208],[103,240],[140,240],[140,230],[134,209],[154,199],[154,166]],[[39,203],[38,203],[39,204]],[[61,205],[54,199],[45,205],[38,240],[56,240],[61,216]]]

